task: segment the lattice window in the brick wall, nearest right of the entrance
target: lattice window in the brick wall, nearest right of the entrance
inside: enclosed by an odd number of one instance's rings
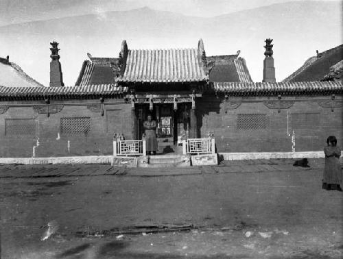
[[[237,130],[263,130],[266,114],[237,114]]]

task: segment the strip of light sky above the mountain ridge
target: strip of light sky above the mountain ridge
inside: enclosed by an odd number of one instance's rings
[[[132,10],[144,6],[188,16],[209,17],[285,1],[287,0],[1,0],[0,26],[66,16],[99,14],[104,11]]]

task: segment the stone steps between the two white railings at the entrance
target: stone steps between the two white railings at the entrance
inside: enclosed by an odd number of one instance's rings
[[[139,167],[190,167],[190,156],[163,155],[147,156],[139,160]]]

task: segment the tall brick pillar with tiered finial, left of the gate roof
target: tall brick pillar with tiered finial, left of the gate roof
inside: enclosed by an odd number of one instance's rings
[[[58,42],[50,42],[51,45],[51,62],[50,62],[50,86],[64,86],[60,55],[58,55]]]

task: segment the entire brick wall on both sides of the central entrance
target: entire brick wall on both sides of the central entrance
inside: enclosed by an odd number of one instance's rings
[[[329,135],[343,147],[342,101],[342,96],[335,103],[330,96],[226,101],[204,95],[196,101],[198,135],[214,132],[218,152],[320,151]],[[113,132],[132,139],[131,105],[106,100],[104,115],[99,105],[98,100],[51,101],[47,116],[46,108],[38,107],[43,102],[1,102],[0,157],[112,154]]]

